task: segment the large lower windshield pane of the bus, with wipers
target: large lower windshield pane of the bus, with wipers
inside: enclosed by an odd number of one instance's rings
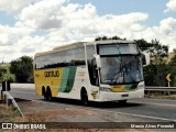
[[[140,55],[101,57],[101,84],[133,84],[143,81]]]

